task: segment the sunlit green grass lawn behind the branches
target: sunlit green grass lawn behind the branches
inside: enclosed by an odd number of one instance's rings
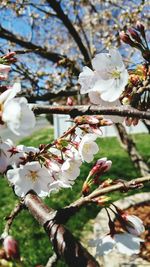
[[[137,143],[139,152],[148,162],[150,158],[149,142],[150,136],[147,134],[134,135],[133,138]],[[22,140],[22,144],[27,146],[38,146],[41,143],[48,143],[53,140],[53,130],[46,128],[33,134],[32,136]],[[135,170],[131,163],[127,153],[120,147],[117,139],[112,138],[100,138],[98,139],[100,146],[100,152],[96,155],[95,159],[107,156],[108,159],[113,161],[111,170],[103,177],[105,178],[125,178],[127,180],[139,176],[139,173]],[[57,194],[51,195],[50,198],[46,198],[45,203],[54,209],[58,209],[68,205],[72,201],[80,197],[82,183],[90,170],[91,164],[84,164],[81,168],[81,175],[77,178],[73,189],[61,190]],[[148,188],[142,189],[147,191]],[[141,190],[130,191],[128,194],[140,192]],[[125,194],[127,195],[127,194]],[[8,187],[7,181],[1,178],[0,186],[0,233],[4,227],[4,217],[9,214],[14,204],[17,202],[17,198],[14,196],[12,189]],[[122,193],[115,192],[111,194],[113,200],[122,197]],[[67,223],[67,227],[73,232],[73,234],[79,238],[82,234],[83,228],[87,225],[87,229],[90,226],[88,221],[96,217],[99,208],[94,205],[83,208],[78,214],[73,216]],[[12,234],[17,240],[19,240],[21,255],[24,259],[24,267],[35,267],[37,264],[45,264],[49,256],[52,254],[52,248],[50,247],[48,238],[46,237],[44,230],[39,227],[38,223],[27,212],[23,211],[15,220],[12,227]],[[58,266],[66,266],[63,262],[60,262]]]

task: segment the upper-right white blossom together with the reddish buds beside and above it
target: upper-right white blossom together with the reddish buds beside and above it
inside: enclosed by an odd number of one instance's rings
[[[140,37],[141,35],[141,37]],[[150,50],[146,39],[145,29],[137,23],[135,29],[130,28],[128,34],[121,32],[120,38],[125,43],[139,49],[146,60],[135,70],[125,68],[122,57],[116,48],[109,53],[97,54],[92,60],[91,70],[84,67],[79,75],[81,94],[88,93],[92,104],[108,107],[130,105],[139,110],[147,110],[150,105]],[[114,122],[121,122],[118,118],[110,117]],[[127,125],[136,125],[138,120],[126,120]]]

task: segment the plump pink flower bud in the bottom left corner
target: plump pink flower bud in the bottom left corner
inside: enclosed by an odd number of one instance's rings
[[[10,235],[8,235],[3,242],[4,250],[8,258],[19,259],[19,246],[17,241]]]

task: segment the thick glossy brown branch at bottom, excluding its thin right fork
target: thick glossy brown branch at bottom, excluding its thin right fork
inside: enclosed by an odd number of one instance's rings
[[[58,257],[63,257],[70,267],[98,267],[99,264],[63,225],[55,220],[55,213],[42,200],[27,194],[25,205],[35,219],[44,227]]]

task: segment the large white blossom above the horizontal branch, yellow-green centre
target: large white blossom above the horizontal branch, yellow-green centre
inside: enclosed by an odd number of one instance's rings
[[[104,101],[118,99],[128,83],[128,72],[119,51],[113,48],[109,53],[97,54],[92,60],[92,66],[94,71],[84,67],[79,75],[81,94],[96,91]]]

